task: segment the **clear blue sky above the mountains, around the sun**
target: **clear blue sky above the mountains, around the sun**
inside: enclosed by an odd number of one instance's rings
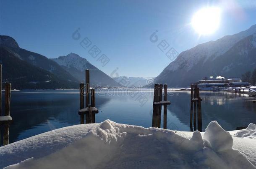
[[[215,33],[199,37],[190,23],[206,6],[222,9],[221,23]],[[114,76],[155,77],[172,61],[157,47],[161,40],[181,53],[246,30],[255,16],[255,0],[0,0],[0,34],[48,58],[77,53],[108,75],[118,68]],[[155,30],[159,39],[152,43]],[[84,49],[86,37],[91,45]],[[93,45],[101,50],[96,58],[88,53]],[[105,66],[101,54],[110,60]]]

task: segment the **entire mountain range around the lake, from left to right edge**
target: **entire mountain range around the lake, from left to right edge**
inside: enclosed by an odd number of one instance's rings
[[[0,35],[0,62],[3,82],[15,89],[78,88],[90,70],[92,86],[150,86],[167,83],[187,87],[209,76],[240,77],[256,68],[256,25],[185,50],[152,82],[153,78],[121,76],[111,78],[75,53],[49,59],[19,47],[10,36]]]

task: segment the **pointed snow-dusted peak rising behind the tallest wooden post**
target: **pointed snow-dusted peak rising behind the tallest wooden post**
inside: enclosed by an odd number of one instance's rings
[[[79,81],[84,82],[85,80],[85,70],[90,70],[90,83],[93,86],[120,86],[116,81],[114,81],[110,76],[100,71],[98,68],[93,66],[85,58],[80,57],[75,53],[69,53],[66,56],[60,56],[58,58],[53,58],[60,66],[62,66],[66,71],[71,73]]]

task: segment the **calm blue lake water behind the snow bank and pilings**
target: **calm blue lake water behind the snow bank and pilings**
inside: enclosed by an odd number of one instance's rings
[[[140,95],[144,97],[140,99]],[[235,130],[238,126],[248,126],[251,122],[256,123],[256,104],[245,101],[243,95],[204,91],[200,95],[203,99],[203,131],[213,120],[217,120],[227,131]],[[101,91],[96,92],[95,99],[99,109],[97,123],[110,119],[146,128],[152,125],[152,90],[128,93]],[[172,91],[168,100],[171,105],[167,106],[167,129],[190,131],[190,92]],[[78,90],[12,91],[11,116],[14,123],[10,125],[10,143],[80,124],[78,109]]]

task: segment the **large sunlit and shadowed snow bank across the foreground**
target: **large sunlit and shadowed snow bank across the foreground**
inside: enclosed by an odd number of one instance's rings
[[[232,136],[217,121],[208,125],[203,137],[199,131],[191,137],[186,133],[191,132],[110,120],[69,126],[1,147],[0,164],[9,165],[7,169],[256,168],[232,149]]]

